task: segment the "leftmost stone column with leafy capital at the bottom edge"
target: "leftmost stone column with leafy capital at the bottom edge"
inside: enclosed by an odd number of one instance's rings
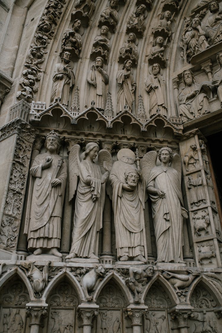
[[[26,306],[26,316],[31,317],[31,329],[30,333],[39,333],[39,328],[42,323],[42,319],[47,317],[47,306]]]

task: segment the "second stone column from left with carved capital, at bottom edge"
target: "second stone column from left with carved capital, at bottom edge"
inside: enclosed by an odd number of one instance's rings
[[[99,305],[97,304],[80,304],[78,306],[78,317],[82,319],[81,327],[83,333],[91,333],[93,319],[98,316]]]

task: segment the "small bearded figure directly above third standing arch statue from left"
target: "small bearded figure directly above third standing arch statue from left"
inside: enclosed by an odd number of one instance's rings
[[[133,32],[130,32],[127,38],[127,43],[124,43],[119,49],[119,59],[118,61],[124,62],[127,59],[132,60],[132,65],[137,65],[138,60],[138,51],[137,46],[135,45],[136,35]]]

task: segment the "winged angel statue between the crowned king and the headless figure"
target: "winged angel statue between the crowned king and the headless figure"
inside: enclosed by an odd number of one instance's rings
[[[98,260],[99,230],[102,228],[103,207],[105,201],[105,183],[110,172],[106,166],[106,150],[99,152],[95,142],[86,145],[85,152],[80,157],[80,146],[74,145],[69,155],[70,197],[75,194],[78,176],[80,182],[77,188],[73,242],[70,254],[66,259],[76,257]],[[94,162],[98,155],[98,162]],[[111,163],[112,164],[112,163]]]

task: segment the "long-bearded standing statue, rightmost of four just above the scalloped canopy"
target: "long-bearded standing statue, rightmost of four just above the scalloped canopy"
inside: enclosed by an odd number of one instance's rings
[[[145,89],[149,94],[150,118],[157,113],[167,117],[166,83],[159,64],[152,65],[152,74],[147,77]]]

